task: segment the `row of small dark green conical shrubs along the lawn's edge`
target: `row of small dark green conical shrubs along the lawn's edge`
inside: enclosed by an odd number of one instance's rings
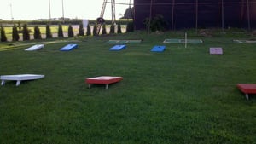
[[[47,24],[46,27],[46,39],[49,39],[49,38],[52,38],[52,33],[50,31],[50,25]],[[133,32],[134,29],[133,29],[133,22],[129,22],[126,26],[126,32]],[[19,35],[19,32],[22,32],[22,39],[23,41],[26,41],[26,40],[30,40],[30,33],[32,32],[31,30],[28,29],[27,27],[27,24],[24,24],[22,26],[22,28],[20,26],[16,26],[14,25],[12,27],[12,41],[19,41],[20,40],[20,35]],[[114,24],[111,24],[110,26],[110,31],[109,33],[115,33],[115,26]],[[122,33],[122,29],[121,29],[121,25],[120,23],[118,24],[117,26],[117,33]],[[94,24],[93,26],[93,31],[91,33],[91,29],[90,29],[90,25],[87,26],[87,31],[86,33],[84,34],[84,26],[82,23],[79,24],[79,33],[78,33],[78,36],[97,36],[99,33],[97,32],[97,24]],[[107,34],[107,30],[106,30],[106,24],[102,24],[102,35],[105,35]],[[69,24],[68,26],[68,30],[67,30],[67,36],[68,37],[74,37],[74,32],[73,32],[73,27],[71,24]],[[5,31],[4,31],[4,27],[1,26],[1,42],[6,42],[7,41],[7,37],[6,37],[6,34],[5,34]],[[40,29],[39,29],[39,26],[34,26],[34,31],[33,31],[33,37],[34,39],[42,39],[42,36],[41,36],[41,32],[40,32]],[[63,35],[63,30],[62,30],[62,24],[59,24],[58,25],[58,37],[62,38],[64,37]]]

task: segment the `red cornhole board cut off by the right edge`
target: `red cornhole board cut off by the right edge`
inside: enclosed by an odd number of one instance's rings
[[[256,94],[256,84],[237,84],[237,88],[245,93],[247,100],[249,99],[249,94]]]

